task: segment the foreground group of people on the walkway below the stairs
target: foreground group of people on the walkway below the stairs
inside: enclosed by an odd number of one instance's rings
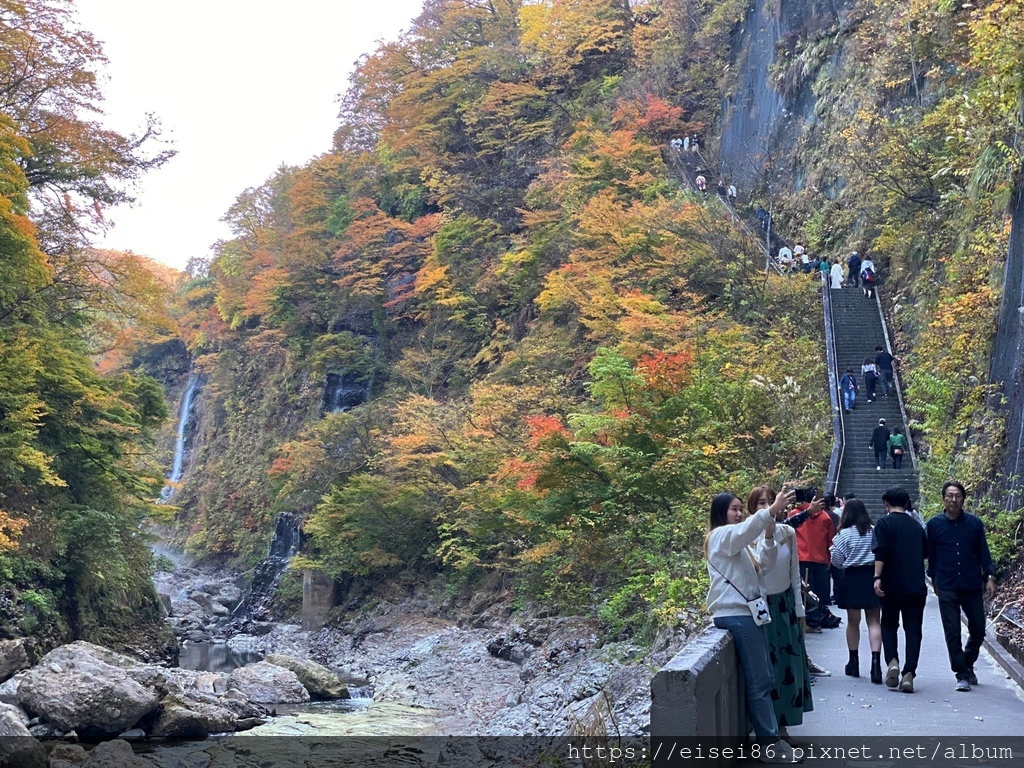
[[[751,492],[744,505],[733,494],[719,494],[712,500],[705,540],[711,579],[708,609],[715,626],[727,630],[735,643],[750,725],[762,748],[757,759],[765,763],[796,761],[786,729],[803,723],[804,713],[814,709],[812,666],[804,640],[810,631],[804,600],[812,573],[802,561],[812,546],[827,545],[833,572],[839,574],[837,602],[847,611],[846,675],[860,677],[863,615],[871,683],[903,693],[914,691],[926,578],[939,599],[954,689],[961,692],[978,685],[974,666],[985,633],[984,598],[995,593],[984,524],[964,510],[967,492],[955,480],[942,487],[943,513],[927,524],[911,509],[906,490],[897,486],[882,496],[886,514],[873,524],[861,500],[850,495],[840,502],[838,532],[824,500],[815,498],[794,509],[795,496],[786,485],[777,494],[762,485]],[[802,542],[805,538],[815,541]],[[823,570],[827,574],[827,565]],[[825,602],[827,582],[818,590]],[[962,611],[968,620],[966,647]]]

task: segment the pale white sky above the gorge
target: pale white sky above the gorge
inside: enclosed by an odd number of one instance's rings
[[[96,245],[181,267],[229,237],[220,217],[282,164],[327,152],[337,96],[355,59],[393,40],[422,0],[76,0],[110,59],[105,122],[123,133],[146,113],[177,156],[152,171],[134,207]]]

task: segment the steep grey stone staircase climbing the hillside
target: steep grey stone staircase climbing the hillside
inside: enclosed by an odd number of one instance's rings
[[[903,456],[902,469],[893,469],[892,457],[887,457],[886,469],[878,471],[874,469],[874,452],[868,447],[871,431],[878,426],[879,419],[885,419],[890,430],[898,427],[903,432],[904,440],[909,440],[910,437],[900,414],[896,393],[890,392],[888,397],[883,397],[882,387],[879,386],[876,399],[867,402],[867,389],[860,376],[864,358],[870,357],[873,360],[874,347],[887,346],[879,305],[876,299],[865,298],[864,292],[859,288],[829,290],[829,295],[836,338],[836,380],[839,381],[850,368],[860,385],[852,413],[842,414],[845,442],[837,495],[856,494],[867,505],[871,517],[880,517],[885,514],[882,494],[892,485],[900,485],[910,495],[910,500],[916,507],[920,497],[919,479],[909,451]]]

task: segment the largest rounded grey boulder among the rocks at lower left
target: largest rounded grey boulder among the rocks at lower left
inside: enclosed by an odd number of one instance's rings
[[[54,648],[17,687],[19,703],[62,730],[120,733],[159,705],[129,674],[134,659],[91,643]]]

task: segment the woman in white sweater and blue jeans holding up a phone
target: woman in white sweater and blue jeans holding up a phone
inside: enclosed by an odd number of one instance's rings
[[[774,745],[762,754],[764,762],[791,762],[793,751],[779,739],[772,708],[775,685],[765,628],[763,570],[774,566],[775,513],[788,506],[793,492],[783,486],[768,509],[746,517],[743,504],[732,494],[719,494],[711,503],[711,520],[705,553],[708,558],[708,610],[719,629],[728,630],[746,685],[746,709],[758,743]],[[745,517],[745,519],[744,519]],[[764,545],[754,546],[764,537]],[[763,609],[762,609],[763,608]],[[770,755],[769,755],[770,754]]]

